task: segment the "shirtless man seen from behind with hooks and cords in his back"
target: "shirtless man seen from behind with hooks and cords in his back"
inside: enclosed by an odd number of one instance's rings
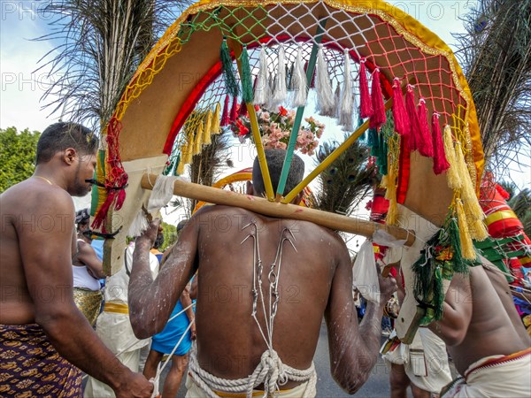
[[[266,150],[275,190],[285,155]],[[285,192],[303,174],[304,162],[294,156]],[[256,159],[250,200],[264,192]],[[312,359],[323,314],[335,380],[349,394],[365,383],[380,348],[383,305],[396,284],[380,278],[381,304],[369,304],[358,325],[349,251],[338,234],[310,222],[209,206],[190,219],[152,281],[147,254],[156,233],[153,223],[136,241],[131,322],[139,337],[160,331],[198,270],[197,352],[190,356],[187,396],[249,396],[253,389],[314,396]]]

